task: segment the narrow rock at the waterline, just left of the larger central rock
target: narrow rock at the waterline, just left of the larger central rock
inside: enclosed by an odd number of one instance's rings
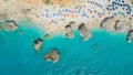
[[[72,29],[72,24],[73,24],[74,22],[72,21],[72,22],[70,22],[68,25],[65,25],[65,36],[66,38],[73,38],[74,36],[74,34],[73,34],[73,29]]]

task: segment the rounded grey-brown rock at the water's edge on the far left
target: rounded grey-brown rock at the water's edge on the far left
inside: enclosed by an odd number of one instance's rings
[[[4,24],[6,31],[16,31],[18,29],[18,24],[13,20],[6,21]]]

